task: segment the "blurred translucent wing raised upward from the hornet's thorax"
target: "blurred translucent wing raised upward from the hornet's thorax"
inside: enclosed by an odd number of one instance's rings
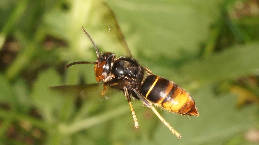
[[[119,44],[119,49],[124,51],[127,57],[131,57],[131,52],[121,32],[116,17],[107,3],[95,1],[91,5],[89,21],[92,21],[93,28],[99,28],[102,33],[107,35],[113,44]],[[96,20],[96,21],[95,21]],[[98,45],[98,44],[97,44]],[[113,48],[110,48],[111,50]]]

